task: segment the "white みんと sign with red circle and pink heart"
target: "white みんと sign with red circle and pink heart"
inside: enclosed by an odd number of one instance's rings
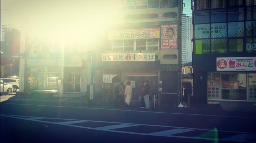
[[[256,57],[217,58],[217,71],[256,71]]]

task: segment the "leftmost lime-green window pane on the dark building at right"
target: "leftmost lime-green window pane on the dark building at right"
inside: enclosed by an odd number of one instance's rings
[[[210,53],[210,40],[195,40],[196,54],[209,54]]]

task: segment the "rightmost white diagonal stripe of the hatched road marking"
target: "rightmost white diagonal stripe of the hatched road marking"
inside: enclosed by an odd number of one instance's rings
[[[222,138],[220,139],[221,141],[236,141],[236,142],[245,142],[248,141],[252,138],[256,138],[256,135],[253,134],[239,134],[239,135],[235,135],[235,136],[230,136],[230,137],[226,137],[226,138]]]

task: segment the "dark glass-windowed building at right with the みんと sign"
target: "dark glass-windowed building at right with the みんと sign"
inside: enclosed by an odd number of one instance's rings
[[[256,102],[256,1],[193,1],[196,101]]]

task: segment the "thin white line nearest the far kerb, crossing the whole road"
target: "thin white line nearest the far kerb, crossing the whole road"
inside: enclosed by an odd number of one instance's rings
[[[152,112],[152,111],[135,111],[135,110],[121,110],[121,109],[92,108],[92,107],[72,107],[72,106],[54,106],[54,105],[36,105],[36,104],[17,104],[17,103],[5,103],[5,104],[9,104],[9,105],[28,105],[28,106],[45,106],[45,107],[81,108],[81,109],[98,109],[98,110],[110,110],[110,111],[112,110],[112,111],[129,111],[129,112],[147,112],[147,113],[163,113],[163,114],[196,115],[196,116],[217,116],[217,117],[256,119],[256,117],[243,117],[243,116],[204,115],[204,114],[171,113],[171,112]]]

